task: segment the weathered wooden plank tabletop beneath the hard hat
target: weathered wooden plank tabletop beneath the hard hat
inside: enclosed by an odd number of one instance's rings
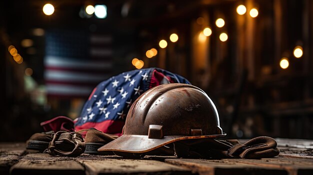
[[[68,158],[26,151],[24,143],[0,143],[0,175],[313,175],[313,140],[275,140],[281,153],[261,160],[174,156],[133,160],[88,154]]]

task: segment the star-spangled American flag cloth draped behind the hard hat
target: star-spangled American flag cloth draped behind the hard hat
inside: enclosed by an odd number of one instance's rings
[[[148,89],[166,83],[190,84],[160,68],[132,70],[110,77],[93,89],[80,116],[74,120],[75,130],[95,128],[120,136],[132,102]]]

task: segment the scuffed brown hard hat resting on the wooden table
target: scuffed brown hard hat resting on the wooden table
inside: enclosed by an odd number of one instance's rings
[[[211,99],[188,84],[163,84],[149,89],[132,104],[123,135],[98,151],[145,153],[186,139],[222,137]]]

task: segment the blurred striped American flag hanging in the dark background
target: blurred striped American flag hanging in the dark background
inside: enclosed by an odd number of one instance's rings
[[[111,36],[83,31],[46,32],[44,79],[49,97],[87,97],[111,76]]]

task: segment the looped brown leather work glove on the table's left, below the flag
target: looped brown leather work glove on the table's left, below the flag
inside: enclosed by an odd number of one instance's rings
[[[58,131],[52,134],[52,140],[44,153],[51,156],[77,157],[85,150],[85,143],[77,132]]]

